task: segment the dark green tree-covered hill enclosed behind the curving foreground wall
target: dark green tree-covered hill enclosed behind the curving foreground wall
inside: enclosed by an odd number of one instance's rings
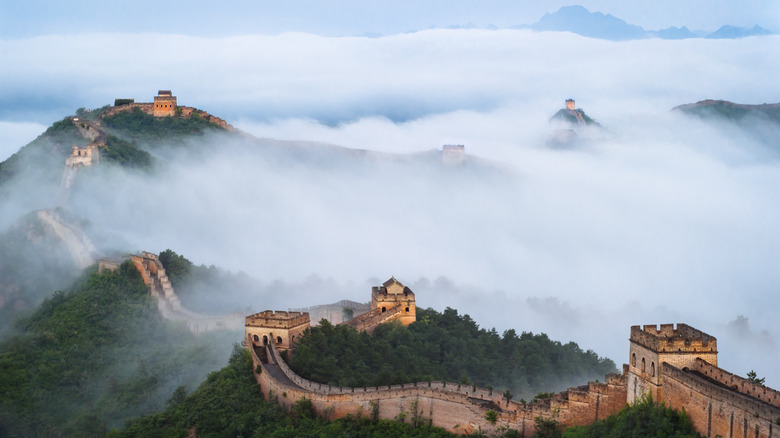
[[[417,309],[408,327],[384,324],[369,336],[322,321],[298,343],[291,367],[315,382],[377,386],[446,380],[530,398],[616,372],[610,359],[545,334],[481,329],[454,309]]]

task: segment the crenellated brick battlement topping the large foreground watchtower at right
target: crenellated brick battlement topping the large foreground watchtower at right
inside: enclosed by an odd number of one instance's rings
[[[630,340],[656,353],[718,352],[714,336],[683,323],[631,326]]]

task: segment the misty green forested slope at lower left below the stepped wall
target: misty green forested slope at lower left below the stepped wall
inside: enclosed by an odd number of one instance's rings
[[[0,342],[0,436],[100,436],[224,365],[239,334],[163,320],[138,271],[88,272]]]

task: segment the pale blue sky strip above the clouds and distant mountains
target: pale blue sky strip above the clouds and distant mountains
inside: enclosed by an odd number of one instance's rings
[[[775,0],[29,0],[0,4],[0,37],[85,32],[392,34],[431,26],[532,24],[545,13],[572,4],[646,29],[688,26],[713,31],[724,24],[758,24],[780,31]]]

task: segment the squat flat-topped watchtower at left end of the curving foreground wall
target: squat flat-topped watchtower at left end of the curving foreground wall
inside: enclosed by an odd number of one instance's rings
[[[292,350],[296,339],[309,328],[309,314],[266,310],[246,317],[244,332],[247,345],[262,346],[273,342],[278,350]]]

